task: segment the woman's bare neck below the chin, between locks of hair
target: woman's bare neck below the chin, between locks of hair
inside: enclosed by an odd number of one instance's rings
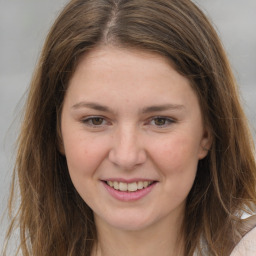
[[[96,222],[98,243],[92,256],[183,256],[181,221],[172,222],[163,221],[135,231],[120,230]],[[170,228],[167,228],[167,224]]]

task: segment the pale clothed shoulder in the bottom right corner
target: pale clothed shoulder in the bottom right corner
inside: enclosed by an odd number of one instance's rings
[[[256,227],[248,232],[234,248],[230,256],[256,255]]]

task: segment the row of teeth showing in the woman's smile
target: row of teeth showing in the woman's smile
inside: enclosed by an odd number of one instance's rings
[[[137,190],[147,188],[149,185],[151,185],[152,181],[138,181],[138,182],[132,182],[132,183],[125,183],[125,182],[118,182],[118,181],[107,181],[107,184],[120,191],[129,191],[129,192],[135,192]]]

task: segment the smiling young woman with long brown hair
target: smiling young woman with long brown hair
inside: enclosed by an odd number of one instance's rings
[[[253,242],[252,139],[218,36],[188,0],[71,1],[31,82],[15,171],[22,255]]]

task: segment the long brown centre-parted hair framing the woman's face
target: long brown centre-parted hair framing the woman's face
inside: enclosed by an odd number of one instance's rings
[[[31,82],[18,139],[17,221],[24,256],[89,256],[97,240],[92,210],[76,192],[59,151],[60,113],[82,55],[99,44],[168,58],[189,78],[212,133],[198,165],[183,231],[185,255],[228,255],[240,217],[256,203],[256,165],[247,120],[220,40],[189,0],[73,0],[54,23]],[[14,200],[15,178],[10,209]]]

